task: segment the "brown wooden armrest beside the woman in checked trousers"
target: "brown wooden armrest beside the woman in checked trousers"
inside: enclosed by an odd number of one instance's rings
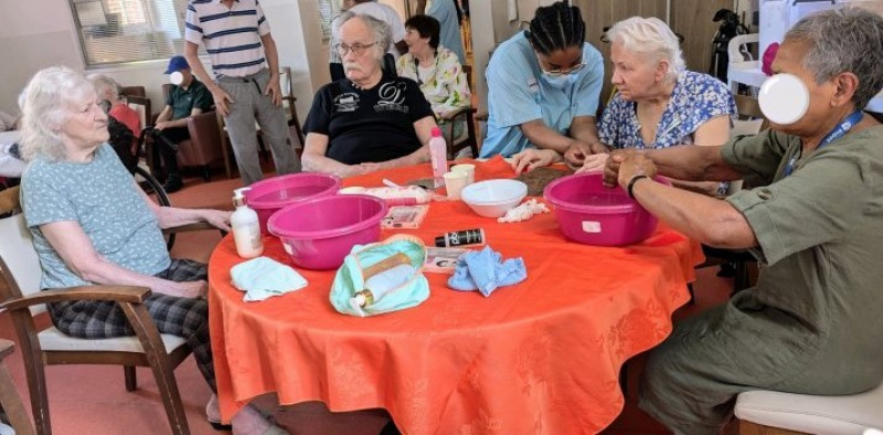
[[[0,310],[19,310],[32,305],[65,300],[114,300],[117,303],[143,304],[150,295],[147,287],[135,286],[82,286],[39,291],[30,296],[10,299],[0,304]]]

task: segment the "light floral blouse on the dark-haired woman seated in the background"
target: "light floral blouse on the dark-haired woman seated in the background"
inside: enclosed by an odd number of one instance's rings
[[[436,118],[471,105],[469,83],[462,65],[448,49],[439,46],[436,51],[435,64],[428,68],[417,65],[416,59],[411,53],[403,54],[396,61],[396,72],[400,77],[407,77],[417,82],[423,95],[433,106]],[[442,126],[444,128],[444,126]],[[454,137],[459,137],[465,129],[465,123],[458,121],[454,126]]]

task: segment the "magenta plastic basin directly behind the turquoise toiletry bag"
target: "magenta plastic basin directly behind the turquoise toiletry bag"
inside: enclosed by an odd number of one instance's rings
[[[309,269],[333,269],[354,245],[380,240],[386,201],[363,194],[319,197],[276,212],[267,222],[291,262]]]

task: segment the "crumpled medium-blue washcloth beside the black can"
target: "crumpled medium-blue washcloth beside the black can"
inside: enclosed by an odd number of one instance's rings
[[[488,297],[497,287],[511,286],[528,277],[528,269],[521,257],[506,262],[502,259],[502,255],[490,246],[462,254],[457,261],[454,276],[448,279],[448,287],[462,291],[477,289]]]

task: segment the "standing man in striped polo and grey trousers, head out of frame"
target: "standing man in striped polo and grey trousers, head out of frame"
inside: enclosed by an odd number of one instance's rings
[[[276,43],[258,1],[191,0],[187,9],[184,56],[224,117],[243,183],[263,178],[255,120],[269,141],[276,172],[299,172],[281,107]],[[196,54],[200,43],[209,52],[214,81]]]

